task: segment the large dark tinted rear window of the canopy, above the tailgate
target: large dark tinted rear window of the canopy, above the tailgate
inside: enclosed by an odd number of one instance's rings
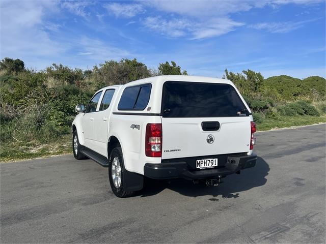
[[[163,117],[232,117],[243,110],[229,84],[167,81],[163,86]]]

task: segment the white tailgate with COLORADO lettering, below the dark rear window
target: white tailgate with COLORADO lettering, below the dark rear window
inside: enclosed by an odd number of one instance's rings
[[[205,125],[213,124],[210,122],[216,124],[218,122],[219,129],[205,128]],[[250,136],[249,116],[162,117],[162,159],[247,152],[249,151]]]

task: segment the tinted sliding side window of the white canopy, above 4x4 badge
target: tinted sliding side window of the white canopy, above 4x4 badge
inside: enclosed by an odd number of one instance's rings
[[[118,109],[144,110],[149,102],[151,87],[151,84],[144,84],[125,88]]]

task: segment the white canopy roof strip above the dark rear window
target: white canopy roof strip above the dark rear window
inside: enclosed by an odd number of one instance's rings
[[[146,82],[155,82],[155,84],[157,84],[157,83],[164,83],[165,81],[184,81],[184,82],[188,81],[188,82],[224,83],[224,84],[232,83],[228,79],[213,78],[213,77],[192,76],[192,75],[160,75],[160,76],[154,76],[145,79],[131,81],[129,83],[126,83],[125,86],[144,84]]]

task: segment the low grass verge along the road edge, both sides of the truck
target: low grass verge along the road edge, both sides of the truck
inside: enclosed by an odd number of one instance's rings
[[[281,116],[280,118],[264,118],[257,123],[258,131],[291,126],[306,126],[325,123],[326,115],[319,117],[309,115]],[[49,143],[38,141],[19,142],[11,141],[0,145],[0,162],[12,162],[26,159],[50,157],[54,155],[72,154],[71,135],[58,137]]]

